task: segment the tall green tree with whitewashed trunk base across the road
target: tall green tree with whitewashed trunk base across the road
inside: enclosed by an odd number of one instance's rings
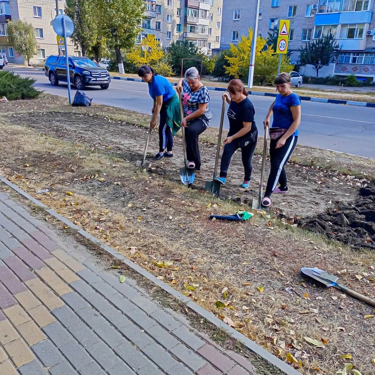
[[[130,50],[139,35],[144,0],[93,0],[99,14],[100,30],[107,40],[107,46],[113,48],[118,71],[124,73],[121,49]]]

